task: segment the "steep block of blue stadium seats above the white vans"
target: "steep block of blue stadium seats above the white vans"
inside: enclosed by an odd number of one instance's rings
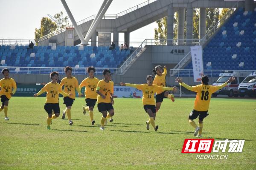
[[[237,9],[204,47],[203,59],[205,70],[256,70],[256,11]]]

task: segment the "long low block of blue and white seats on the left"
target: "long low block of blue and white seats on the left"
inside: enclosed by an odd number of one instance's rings
[[[57,46],[52,50],[51,46],[34,46],[27,50],[28,46],[9,45],[0,47],[0,61],[5,60],[2,66],[19,67],[88,67],[93,65],[98,68],[118,68],[130,55],[130,50],[108,50],[109,47],[84,46]],[[77,66],[78,67],[78,66]]]

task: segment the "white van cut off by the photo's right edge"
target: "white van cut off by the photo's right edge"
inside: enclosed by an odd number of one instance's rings
[[[253,88],[256,88],[256,71],[247,76],[238,86],[238,94],[240,97],[248,95],[250,97],[256,96],[256,91],[253,91]]]

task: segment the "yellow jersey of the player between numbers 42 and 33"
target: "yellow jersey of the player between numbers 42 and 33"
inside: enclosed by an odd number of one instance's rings
[[[64,85],[64,92],[67,94],[72,93],[73,95],[70,96],[70,98],[75,99],[76,98],[76,91],[78,91],[78,94],[80,95],[80,91],[79,91],[79,85],[78,85],[78,81],[76,79],[76,77],[72,77],[71,79],[68,79],[67,77],[64,77],[61,80],[60,86],[62,88],[62,86]]]

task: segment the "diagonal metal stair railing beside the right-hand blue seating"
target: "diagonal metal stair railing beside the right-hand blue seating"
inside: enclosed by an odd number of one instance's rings
[[[204,45],[204,43],[210,39],[210,37],[215,33],[215,31],[218,30],[218,27],[222,26],[220,23],[224,23],[233,14],[233,12],[235,11],[234,9],[238,8],[238,3],[239,1],[236,2],[235,5],[227,12],[227,14],[225,14],[220,20],[218,20],[218,23],[212,26],[210,31],[208,31],[207,34],[201,40],[199,40],[199,42],[196,43],[195,45]],[[191,59],[191,51],[189,51],[189,53],[186,54],[185,57],[183,57],[183,59],[181,59],[180,62],[178,62],[178,64],[173,69],[177,70],[182,68],[187,62],[189,62],[190,59]],[[172,75],[174,74],[175,72],[173,72]]]

